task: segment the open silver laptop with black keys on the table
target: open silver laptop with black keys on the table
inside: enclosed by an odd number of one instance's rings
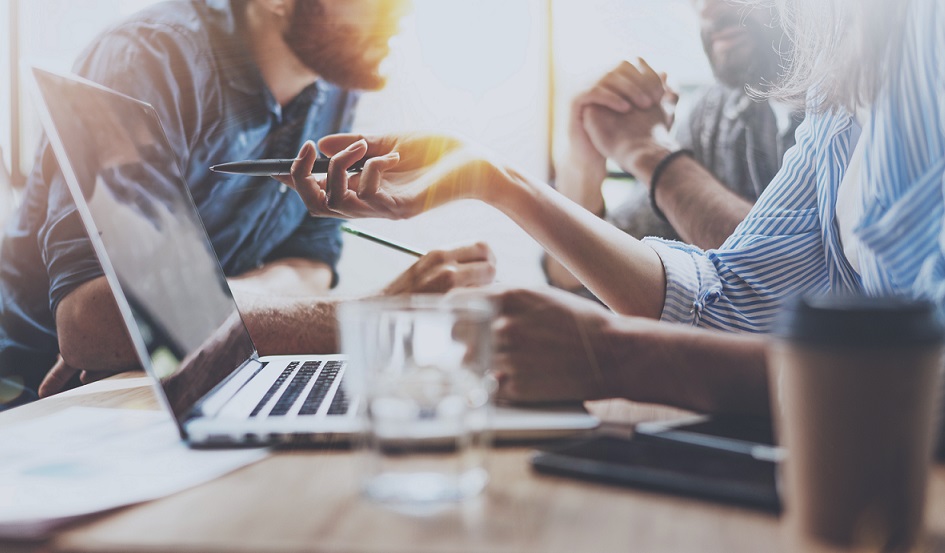
[[[331,443],[359,434],[343,355],[256,351],[157,112],[33,69],[37,105],[141,365],[193,446]],[[497,407],[498,439],[594,428],[575,406]]]

